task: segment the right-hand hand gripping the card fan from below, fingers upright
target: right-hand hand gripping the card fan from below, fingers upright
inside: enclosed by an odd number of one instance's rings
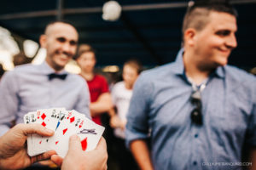
[[[52,156],[51,160],[61,167],[61,170],[106,170],[108,152],[105,139],[101,138],[95,150],[84,152],[80,139],[73,135],[69,140],[69,149],[64,160],[60,156]]]

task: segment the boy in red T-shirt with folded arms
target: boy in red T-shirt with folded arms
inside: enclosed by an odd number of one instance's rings
[[[102,125],[101,115],[112,108],[108,82],[102,75],[95,74],[96,54],[87,44],[79,46],[76,61],[81,68],[80,76],[87,82],[90,91],[90,114],[92,120]]]

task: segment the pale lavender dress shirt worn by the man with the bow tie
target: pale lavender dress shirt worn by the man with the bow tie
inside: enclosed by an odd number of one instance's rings
[[[90,117],[90,94],[87,83],[79,75],[67,73],[65,80],[49,81],[47,75],[55,71],[42,65],[20,65],[8,71],[0,82],[0,136],[9,130],[11,121],[23,122],[29,111],[65,107]]]

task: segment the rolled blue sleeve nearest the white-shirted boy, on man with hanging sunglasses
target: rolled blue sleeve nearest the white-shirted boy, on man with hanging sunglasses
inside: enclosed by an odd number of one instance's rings
[[[125,128],[125,143],[129,148],[131,141],[148,138],[148,112],[153,88],[143,74],[135,83]]]

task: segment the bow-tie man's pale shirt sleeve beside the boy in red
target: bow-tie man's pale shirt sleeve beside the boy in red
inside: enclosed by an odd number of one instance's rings
[[[91,119],[89,105],[90,105],[90,92],[89,92],[87,83],[83,81],[74,110],[84,113],[86,117]]]

